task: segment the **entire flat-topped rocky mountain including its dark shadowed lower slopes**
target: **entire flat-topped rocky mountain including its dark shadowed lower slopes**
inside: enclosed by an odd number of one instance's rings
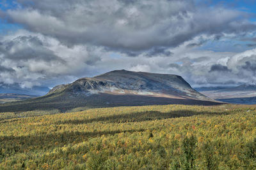
[[[58,85],[42,97],[5,104],[6,110],[67,111],[72,108],[138,106],[150,104],[220,104],[192,89],[181,76],[126,70]]]

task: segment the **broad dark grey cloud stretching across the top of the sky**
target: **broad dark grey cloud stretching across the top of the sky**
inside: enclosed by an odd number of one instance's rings
[[[242,11],[198,8],[193,1],[18,2],[22,8],[9,10],[6,15],[10,21],[70,46],[90,44],[122,52],[154,51],[157,46],[177,46],[200,34],[220,38],[223,33],[239,35],[255,30]]]

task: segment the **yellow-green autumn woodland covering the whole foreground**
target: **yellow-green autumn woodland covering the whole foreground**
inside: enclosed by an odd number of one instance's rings
[[[255,169],[255,106],[134,106],[0,121],[0,169]]]

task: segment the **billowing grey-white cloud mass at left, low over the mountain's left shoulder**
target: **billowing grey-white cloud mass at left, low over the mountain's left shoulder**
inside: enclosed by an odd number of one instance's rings
[[[54,79],[70,80],[67,76],[79,75],[100,60],[95,47],[68,48],[40,34],[17,34],[0,41],[0,82],[4,84],[31,88]]]

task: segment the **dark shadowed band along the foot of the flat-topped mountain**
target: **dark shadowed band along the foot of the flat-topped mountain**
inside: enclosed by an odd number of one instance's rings
[[[220,105],[213,101],[198,101],[193,99],[172,99],[167,97],[94,94],[92,96],[60,94],[59,96],[43,96],[26,101],[0,104],[1,112],[12,111],[49,111],[57,109],[65,112],[73,108],[105,108],[115,106],[145,106],[154,104],[186,104],[186,105]]]

